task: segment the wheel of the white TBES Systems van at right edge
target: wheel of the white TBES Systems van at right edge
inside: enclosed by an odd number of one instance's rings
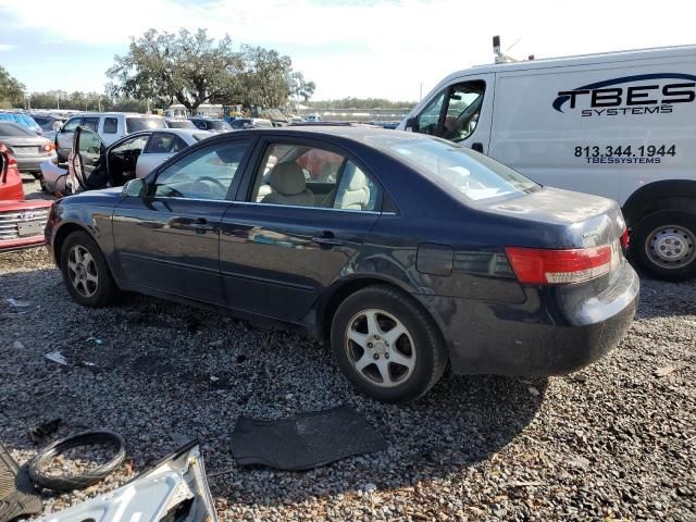
[[[648,275],[664,281],[696,276],[696,214],[664,210],[648,214],[633,228],[631,258]]]

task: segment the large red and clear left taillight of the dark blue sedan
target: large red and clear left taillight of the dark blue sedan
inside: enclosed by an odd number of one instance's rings
[[[530,285],[582,283],[611,270],[609,245],[570,250],[508,247],[505,252],[518,281]]]

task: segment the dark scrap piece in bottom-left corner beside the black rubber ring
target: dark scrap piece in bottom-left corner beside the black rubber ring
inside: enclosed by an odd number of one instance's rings
[[[0,443],[0,522],[10,522],[22,514],[40,513],[41,499],[33,489],[27,474],[18,469]]]

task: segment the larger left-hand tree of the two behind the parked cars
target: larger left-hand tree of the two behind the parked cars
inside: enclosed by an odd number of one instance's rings
[[[178,35],[150,29],[141,38],[132,39],[128,53],[114,60],[107,71],[114,82],[112,95],[153,100],[161,105],[176,99],[191,112],[222,96],[228,77],[241,65],[229,37],[215,45],[206,29],[195,34],[182,29]]]

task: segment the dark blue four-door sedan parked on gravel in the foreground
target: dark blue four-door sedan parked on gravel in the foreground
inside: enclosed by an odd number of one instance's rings
[[[448,363],[573,372],[617,346],[638,297],[616,202],[366,126],[209,138],[123,189],[57,201],[46,237],[84,306],[129,290],[299,325],[385,401]]]

